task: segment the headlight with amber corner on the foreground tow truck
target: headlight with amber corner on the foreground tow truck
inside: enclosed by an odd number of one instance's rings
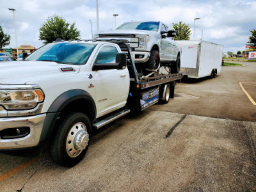
[[[36,104],[43,101],[44,93],[40,89],[0,90],[0,106],[6,110],[33,109]]]

